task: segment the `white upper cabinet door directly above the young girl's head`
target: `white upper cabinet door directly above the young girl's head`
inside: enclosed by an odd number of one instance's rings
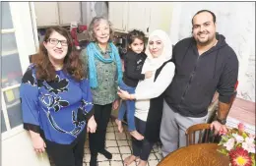
[[[147,33],[149,28],[150,14],[146,2],[129,2],[128,3],[128,23],[127,30],[140,29]]]

